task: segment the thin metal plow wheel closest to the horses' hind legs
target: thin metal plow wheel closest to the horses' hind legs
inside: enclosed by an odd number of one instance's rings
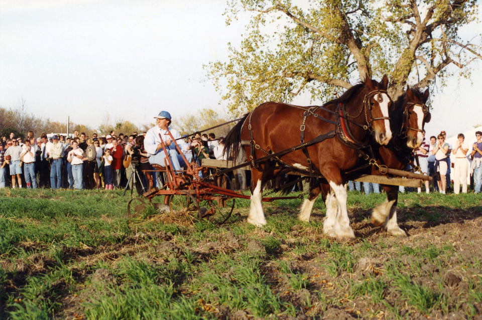
[[[199,219],[207,219],[221,225],[229,219],[234,210],[235,198],[209,196],[199,202]]]

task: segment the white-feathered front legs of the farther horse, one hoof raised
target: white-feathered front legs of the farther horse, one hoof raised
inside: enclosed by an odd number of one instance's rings
[[[392,236],[407,236],[397,223],[398,186],[382,186],[387,193],[387,200],[373,210],[373,225],[385,225]]]

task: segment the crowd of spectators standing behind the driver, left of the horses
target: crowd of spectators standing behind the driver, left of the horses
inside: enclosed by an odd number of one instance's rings
[[[174,131],[174,130],[173,130]],[[91,137],[75,130],[72,135],[42,133],[36,138],[29,131],[25,140],[15,133],[2,136],[0,141],[0,188],[51,188],[51,189],[121,189],[129,183],[133,162],[127,155],[138,154],[142,187],[156,186],[149,172],[154,170],[149,162],[153,156],[144,148],[146,132],[130,135],[110,131]],[[202,158],[225,159],[223,138],[214,133],[184,136],[183,144],[189,145],[185,155],[190,161]],[[153,152],[155,153],[155,151]],[[137,166],[137,164],[136,164]],[[132,180],[129,184],[133,188]],[[244,179],[246,186],[246,178]]]

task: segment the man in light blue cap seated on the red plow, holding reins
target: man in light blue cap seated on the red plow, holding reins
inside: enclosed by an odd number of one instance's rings
[[[170,127],[171,125],[171,114],[167,111],[161,111],[157,116],[154,117],[156,119],[156,125],[149,129],[144,139],[144,147],[146,151],[150,154],[149,156],[149,163],[156,164],[161,167],[165,167],[166,153],[162,148],[162,142],[159,135],[162,136],[162,140],[164,140],[164,144],[166,149],[169,153],[169,159],[175,171],[181,171],[181,166],[184,165],[184,161],[182,156],[177,153],[176,146],[172,142],[171,137],[167,133],[167,130],[171,132],[171,135],[176,142],[178,143],[181,150],[189,150],[191,146],[184,142],[181,138],[181,134],[176,130]],[[190,159],[187,159],[190,161]],[[156,173],[157,174],[157,173]]]

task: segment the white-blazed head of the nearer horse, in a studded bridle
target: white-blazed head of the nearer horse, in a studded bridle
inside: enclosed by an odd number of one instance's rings
[[[365,87],[368,93],[363,103],[368,127],[379,144],[388,144],[392,138],[389,116],[392,99],[387,93],[388,77],[384,75],[380,83],[367,77]]]

